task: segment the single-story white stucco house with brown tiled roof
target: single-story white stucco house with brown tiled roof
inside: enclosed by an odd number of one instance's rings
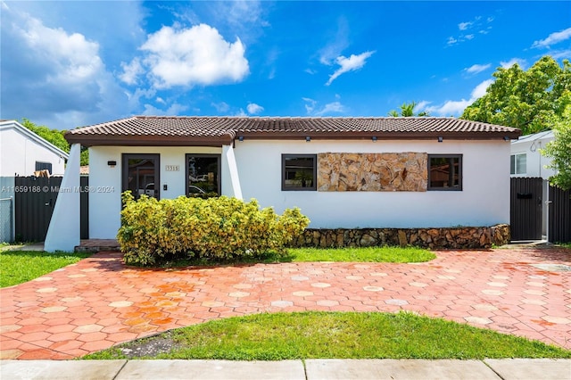
[[[509,140],[519,135],[453,118],[136,116],[66,139],[70,177],[79,178],[79,145],[89,147],[89,237],[112,239],[126,190],[297,206],[310,228],[509,223]],[[71,212],[68,222],[79,206]]]

